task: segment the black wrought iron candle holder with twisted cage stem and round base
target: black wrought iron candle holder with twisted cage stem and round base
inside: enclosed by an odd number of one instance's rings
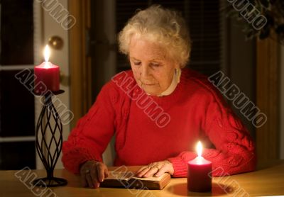
[[[36,125],[35,146],[41,162],[46,170],[45,178],[35,179],[35,186],[65,186],[67,181],[62,178],[54,177],[53,171],[55,164],[62,149],[62,123],[58,111],[53,105],[52,96],[62,94],[64,91],[48,91],[45,94],[36,94],[44,97],[43,108],[41,109],[38,123]],[[54,120],[55,124],[52,124]],[[51,137],[46,137],[50,132]],[[48,139],[50,138],[50,139]]]

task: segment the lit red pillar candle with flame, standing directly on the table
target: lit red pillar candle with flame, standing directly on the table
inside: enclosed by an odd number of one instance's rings
[[[202,155],[202,144],[197,144],[195,159],[187,164],[187,189],[188,191],[206,192],[212,189],[212,162],[204,159]]]

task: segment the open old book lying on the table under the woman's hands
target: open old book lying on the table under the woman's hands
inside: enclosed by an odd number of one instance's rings
[[[165,173],[159,177],[138,178],[132,171],[109,171],[107,179],[100,184],[101,187],[121,187],[137,189],[163,189],[170,182],[170,174]]]

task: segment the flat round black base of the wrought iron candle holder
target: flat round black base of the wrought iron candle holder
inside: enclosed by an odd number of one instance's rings
[[[34,186],[40,186],[40,187],[57,187],[57,186],[65,186],[67,185],[67,181],[62,178],[58,177],[45,177],[45,178],[40,178],[40,179],[35,179],[33,181]]]

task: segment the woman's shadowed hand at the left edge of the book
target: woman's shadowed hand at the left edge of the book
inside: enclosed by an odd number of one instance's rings
[[[99,183],[102,183],[108,174],[107,166],[94,160],[84,162],[80,168],[82,186],[84,187],[98,188]]]

